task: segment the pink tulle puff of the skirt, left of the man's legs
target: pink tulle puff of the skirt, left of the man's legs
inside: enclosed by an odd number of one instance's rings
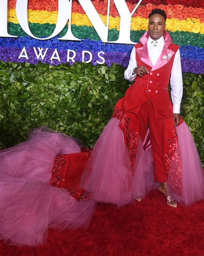
[[[82,175],[84,189],[97,202],[133,203],[132,170],[120,121],[112,118],[100,134]]]

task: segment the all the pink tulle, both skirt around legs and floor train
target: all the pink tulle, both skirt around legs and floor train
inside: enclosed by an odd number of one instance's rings
[[[19,145],[0,152],[0,239],[12,245],[35,246],[46,242],[48,228],[86,228],[96,203],[117,206],[145,198],[159,183],[148,133],[138,150],[134,170],[125,146],[120,121],[112,118],[101,133],[83,171],[81,188],[92,198],[77,201],[64,188],[49,185],[56,155],[80,152],[80,142],[41,127]],[[176,126],[182,162],[181,193],[177,202],[190,205],[204,198],[203,169],[188,126]],[[174,162],[169,174],[174,170]],[[172,182],[172,181],[171,181]],[[169,181],[168,181],[169,183]],[[169,185],[170,190],[171,186]]]

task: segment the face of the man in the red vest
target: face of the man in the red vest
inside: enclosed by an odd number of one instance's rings
[[[149,18],[148,33],[154,41],[163,36],[165,29],[165,19],[160,14],[153,14]]]

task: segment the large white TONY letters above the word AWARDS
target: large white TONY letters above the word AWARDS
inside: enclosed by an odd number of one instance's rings
[[[46,0],[44,0],[46,1]],[[107,2],[107,24],[105,26],[104,22],[101,20],[100,15],[96,11],[91,0],[78,0],[81,4],[84,12],[86,12],[89,20],[91,21],[93,27],[95,28],[101,41],[104,43],[116,43],[116,44],[135,44],[130,39],[131,31],[131,17],[133,13],[137,10],[138,6],[142,2],[139,0],[138,4],[134,7],[134,10],[130,13],[125,0],[113,0],[117,11],[120,15],[120,31],[119,37],[116,41],[108,41],[108,26],[109,26],[109,13],[110,13],[110,1]],[[30,37],[47,40],[53,38],[61,33],[63,28],[66,26],[67,22],[69,24],[72,22],[72,0],[58,0],[58,17],[55,30],[53,34],[46,38],[39,38],[34,36],[28,25],[28,0],[16,0],[16,17],[19,21],[19,25]],[[16,37],[15,35],[8,34],[7,31],[7,17],[8,17],[8,0],[0,0],[0,37]],[[72,34],[71,26],[68,27],[66,35],[58,38],[60,40],[69,41],[81,41],[79,38]]]

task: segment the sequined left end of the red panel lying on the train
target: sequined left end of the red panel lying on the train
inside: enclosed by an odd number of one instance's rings
[[[58,155],[55,157],[55,162],[53,166],[53,170],[51,172],[50,185],[53,187],[58,187],[61,181],[64,181],[63,177],[60,176],[59,170],[62,169],[66,165],[65,158],[62,155]]]

